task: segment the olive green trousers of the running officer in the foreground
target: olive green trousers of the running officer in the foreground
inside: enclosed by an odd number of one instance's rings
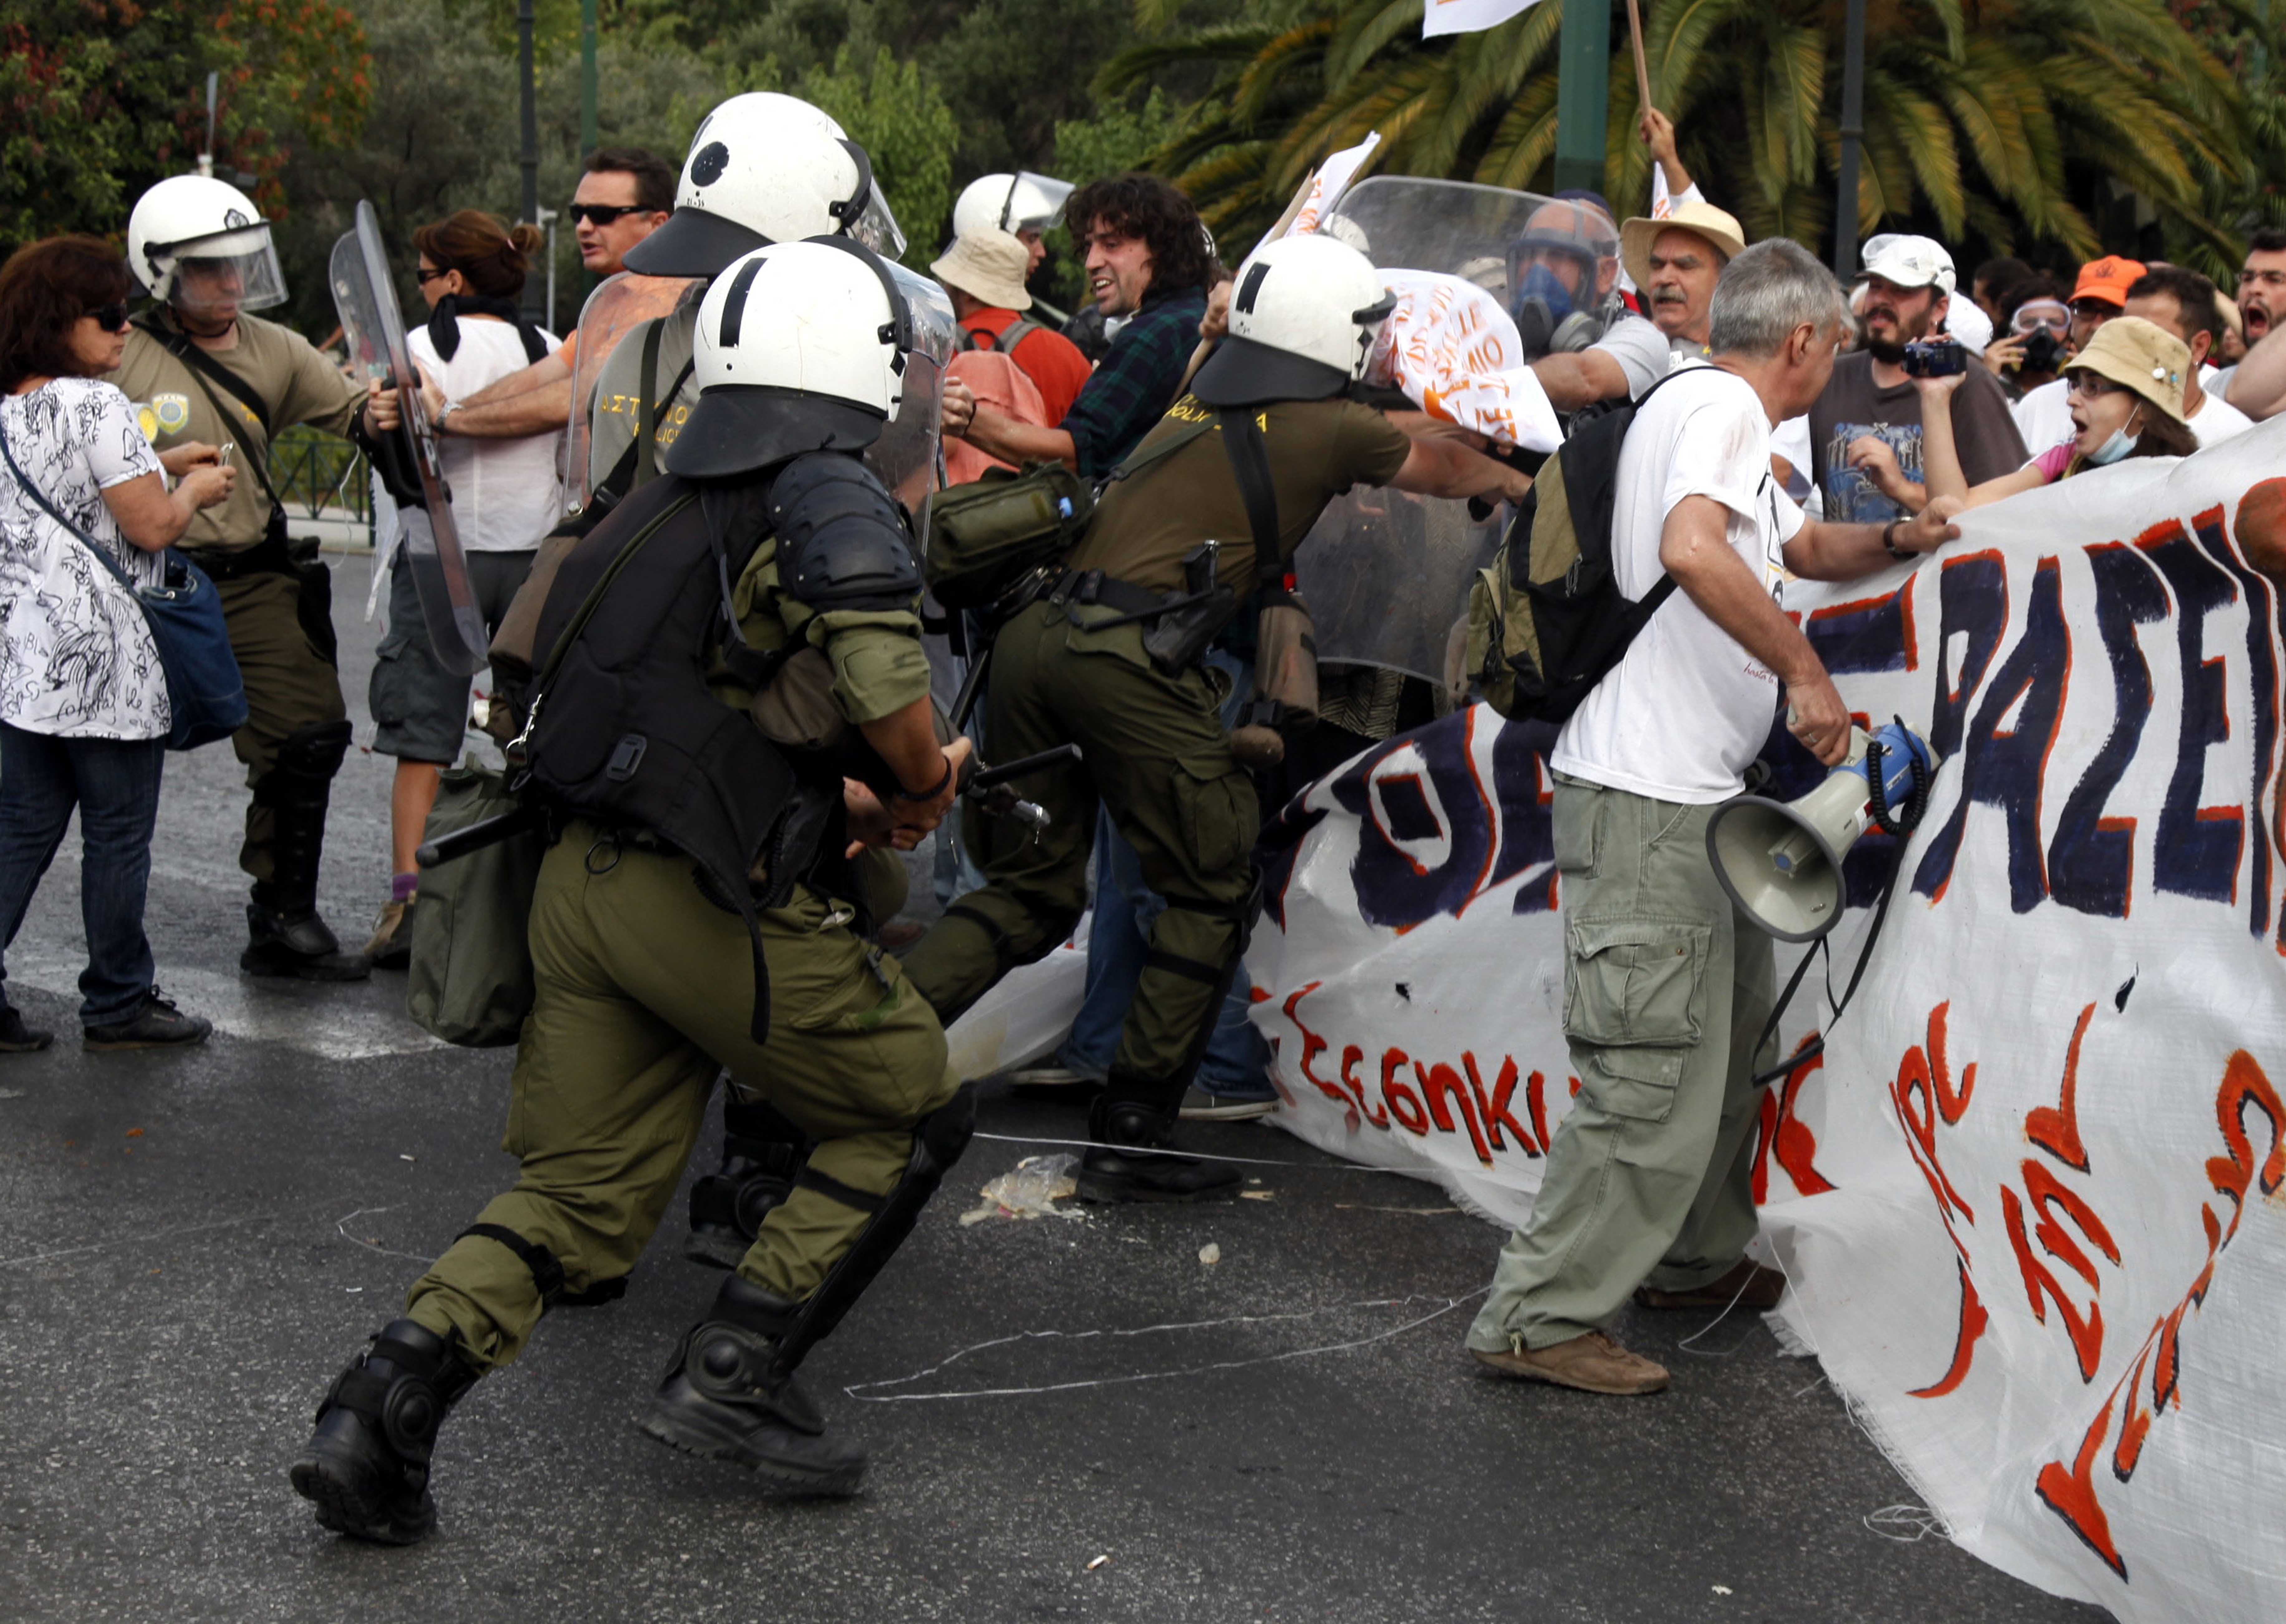
[[[690,859],[574,822],[533,895],[537,996],[501,1140],[521,1172],[475,1222],[546,1247],[569,1293],[620,1279],[674,1199],[716,1071],[729,1069],[738,1099],[816,1140],[809,1169],[825,1185],[796,1185],[770,1211],[738,1275],[809,1297],[871,1220],[825,1190],[894,1190],[914,1124],[956,1092],[937,1016],[850,920],[846,902],[807,886],[761,916],[770,1042],[754,1044],[738,916],[700,893]],[[478,1373],[514,1359],[542,1309],[530,1268],[487,1236],[455,1240],[405,1297]]]

